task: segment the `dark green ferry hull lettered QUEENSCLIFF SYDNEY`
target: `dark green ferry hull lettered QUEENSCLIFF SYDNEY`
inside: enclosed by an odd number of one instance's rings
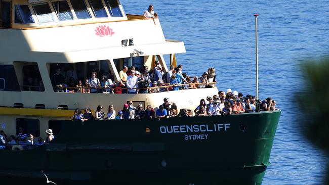
[[[57,184],[261,184],[280,113],[63,121],[48,145],[0,151],[0,178],[46,184],[44,171]]]

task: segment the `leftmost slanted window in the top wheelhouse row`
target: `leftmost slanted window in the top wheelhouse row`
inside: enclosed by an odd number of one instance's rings
[[[15,5],[15,23],[33,24],[34,19],[27,5]]]

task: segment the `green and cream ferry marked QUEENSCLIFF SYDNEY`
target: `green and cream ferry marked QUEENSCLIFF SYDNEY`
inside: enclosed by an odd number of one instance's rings
[[[76,108],[89,107],[94,113],[98,105],[113,105],[118,112],[132,101],[156,110],[168,98],[178,109],[194,110],[200,99],[218,94],[216,85],[152,94],[93,94],[58,90],[52,83],[58,68],[73,69],[72,77],[83,82],[93,71],[98,79],[107,73],[117,82],[124,66],[153,69],[155,61],[163,72],[169,71],[185,46],[165,38],[158,18],[126,14],[119,0],[0,0],[0,40],[0,129],[8,138],[19,128],[34,140],[45,140],[49,129],[55,135],[32,149],[0,150],[1,181],[262,183],[280,110],[71,121]]]

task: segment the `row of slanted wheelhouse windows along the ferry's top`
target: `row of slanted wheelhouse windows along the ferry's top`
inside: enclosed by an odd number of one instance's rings
[[[87,2],[92,12],[88,11]],[[88,0],[86,2],[83,0],[64,0],[53,1],[51,4],[32,4],[31,7],[39,23],[56,22],[57,19],[69,21],[74,19],[73,15],[77,19],[91,19],[92,14],[96,18],[122,17],[117,0]],[[52,12],[52,8],[55,12]],[[28,5],[15,5],[15,23],[35,23]]]

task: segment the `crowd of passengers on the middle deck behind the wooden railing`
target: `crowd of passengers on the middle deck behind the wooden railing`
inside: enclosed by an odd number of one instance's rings
[[[149,70],[148,66],[144,66],[141,70],[142,73],[134,66],[130,68],[125,66],[119,72],[120,79],[114,83],[113,76],[110,73],[104,73],[101,75],[101,78],[98,78],[98,73],[94,71],[90,78],[77,80],[76,72],[72,67],[64,73],[61,68],[57,68],[56,73],[51,76],[51,82],[54,89],[61,92],[112,94],[147,94],[215,86],[215,68],[209,68],[208,72],[204,72],[199,77],[188,76],[183,72],[183,65],[178,65],[177,68],[171,65],[170,70],[166,73],[162,72],[162,69],[163,66],[158,61],[155,61],[153,69]]]

